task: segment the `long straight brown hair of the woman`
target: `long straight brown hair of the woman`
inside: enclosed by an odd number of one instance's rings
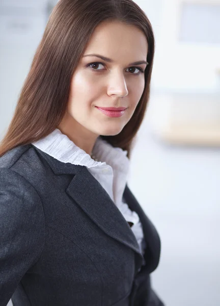
[[[101,136],[114,147],[130,150],[144,119],[150,94],[154,34],[146,14],[132,0],[60,0],[52,10],[14,116],[1,142],[0,157],[15,146],[30,144],[60,124],[68,103],[72,75],[97,25],[117,20],[141,29],[148,41],[145,89],[133,116],[115,136]]]

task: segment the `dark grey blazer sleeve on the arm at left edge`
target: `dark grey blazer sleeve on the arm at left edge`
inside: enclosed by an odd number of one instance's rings
[[[0,306],[6,306],[22,276],[37,262],[45,220],[35,188],[11,169],[0,168]]]

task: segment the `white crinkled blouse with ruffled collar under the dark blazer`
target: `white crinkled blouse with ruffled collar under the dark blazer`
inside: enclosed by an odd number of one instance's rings
[[[115,148],[100,137],[93,147],[92,159],[86,151],[76,146],[59,129],[32,143],[46,154],[63,162],[86,166],[95,179],[106,190],[127,222],[132,222],[131,230],[136,237],[142,254],[146,247],[143,227],[136,212],[124,202],[123,193],[129,170],[127,151]]]

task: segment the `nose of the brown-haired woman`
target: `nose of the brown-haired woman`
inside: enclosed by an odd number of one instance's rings
[[[108,80],[107,94],[109,96],[118,95],[124,97],[128,95],[128,89],[122,73],[115,73],[111,79]]]

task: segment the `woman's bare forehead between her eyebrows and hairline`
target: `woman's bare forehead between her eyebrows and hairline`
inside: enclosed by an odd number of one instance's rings
[[[146,60],[147,38],[134,25],[105,21],[94,30],[84,55],[92,53],[99,53],[115,60]]]

